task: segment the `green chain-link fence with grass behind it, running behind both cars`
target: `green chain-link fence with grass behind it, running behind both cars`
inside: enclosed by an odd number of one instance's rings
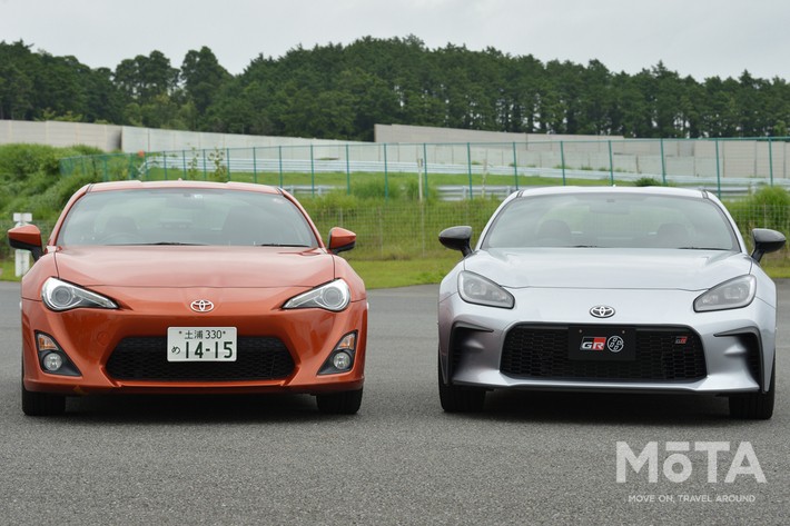
[[[63,159],[60,169],[63,177],[95,181],[184,178],[279,186],[299,198],[323,236],[333,226],[358,234],[350,258],[389,259],[441,252],[441,229],[472,225],[478,234],[502,198],[540,185],[707,188],[728,204],[747,239],[754,227],[787,234],[786,205],[748,205],[742,197],[790,185],[788,145],[780,139],[355,143],[83,156]],[[342,198],[347,195],[361,199],[348,205]],[[11,226],[0,220],[3,230]],[[51,229],[42,227],[46,234]],[[0,256],[9,254],[3,244]],[[780,257],[787,259],[787,251]]]

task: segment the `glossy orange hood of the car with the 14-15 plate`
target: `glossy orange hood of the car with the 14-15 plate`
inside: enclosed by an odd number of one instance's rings
[[[312,287],[335,276],[323,249],[282,247],[70,247],[58,275],[82,286]]]

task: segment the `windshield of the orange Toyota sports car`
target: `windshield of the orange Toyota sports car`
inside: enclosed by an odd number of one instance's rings
[[[87,193],[69,211],[57,242],[317,246],[305,216],[283,196],[161,188]]]

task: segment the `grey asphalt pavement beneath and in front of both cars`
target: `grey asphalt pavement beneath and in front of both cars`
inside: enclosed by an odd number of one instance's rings
[[[540,393],[446,415],[436,291],[369,292],[355,416],[234,396],[69,399],[31,418],[19,285],[0,282],[0,524],[787,524],[790,281],[769,421],[731,420],[720,398]],[[618,443],[646,463],[620,482]]]

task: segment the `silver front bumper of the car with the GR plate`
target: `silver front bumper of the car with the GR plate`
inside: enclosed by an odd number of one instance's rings
[[[511,290],[513,291],[513,290]],[[700,292],[529,288],[515,291],[513,309],[467,304],[457,294],[438,305],[440,360],[445,383],[490,389],[600,390],[643,393],[734,394],[764,390],[773,364],[776,310],[756,298],[741,309],[694,312]],[[595,305],[616,314],[591,316]],[[660,322],[656,322],[660,320]],[[577,326],[623,327],[698,338],[704,373],[689,378],[641,378],[584,374],[513,375],[503,371],[507,335],[520,327],[565,330]],[[556,355],[567,358],[567,340]],[[535,345],[529,353],[545,353]],[[644,355],[642,355],[644,356]],[[639,359],[639,358],[638,358]],[[660,359],[659,359],[660,361]],[[571,370],[581,370],[571,368]],[[619,369],[614,369],[619,370]]]

